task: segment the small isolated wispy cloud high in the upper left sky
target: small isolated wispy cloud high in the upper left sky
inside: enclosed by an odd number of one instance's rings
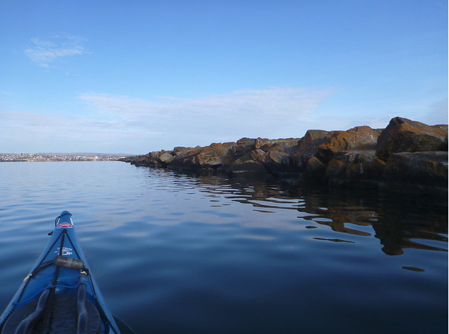
[[[73,35],[54,35],[50,38],[33,38],[25,54],[40,67],[49,67],[57,59],[88,53],[86,38]]]

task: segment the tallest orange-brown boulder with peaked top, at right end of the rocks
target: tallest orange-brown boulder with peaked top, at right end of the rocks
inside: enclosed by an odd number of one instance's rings
[[[425,125],[395,117],[378,138],[376,154],[387,160],[400,152],[448,151],[448,125]]]

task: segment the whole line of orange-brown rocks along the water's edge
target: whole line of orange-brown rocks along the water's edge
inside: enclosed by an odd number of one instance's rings
[[[448,125],[395,117],[385,129],[308,130],[302,138],[175,147],[120,159],[137,166],[228,175],[272,175],[293,185],[448,191]]]

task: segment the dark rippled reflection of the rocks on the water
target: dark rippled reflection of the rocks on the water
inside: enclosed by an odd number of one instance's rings
[[[276,181],[165,170],[148,170],[148,173],[150,176],[157,173],[158,178],[167,181],[165,185],[158,185],[161,190],[192,189],[204,193],[211,207],[230,205],[228,201],[232,201],[252,205],[254,211],[267,214],[297,210],[298,220],[329,226],[332,231],[342,233],[340,238],[316,237],[315,240],[351,243],[353,241],[345,240],[344,234],[353,234],[378,238],[387,255],[400,255],[404,248],[448,251],[445,197],[398,195],[378,190],[328,190],[317,185],[291,188],[287,183]],[[260,227],[263,226],[261,222]],[[313,229],[315,226],[305,227]]]

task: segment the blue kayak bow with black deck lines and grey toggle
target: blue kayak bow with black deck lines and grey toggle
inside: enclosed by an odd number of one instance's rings
[[[121,334],[78,244],[71,214],[61,213],[32,270],[0,318],[1,334]]]

